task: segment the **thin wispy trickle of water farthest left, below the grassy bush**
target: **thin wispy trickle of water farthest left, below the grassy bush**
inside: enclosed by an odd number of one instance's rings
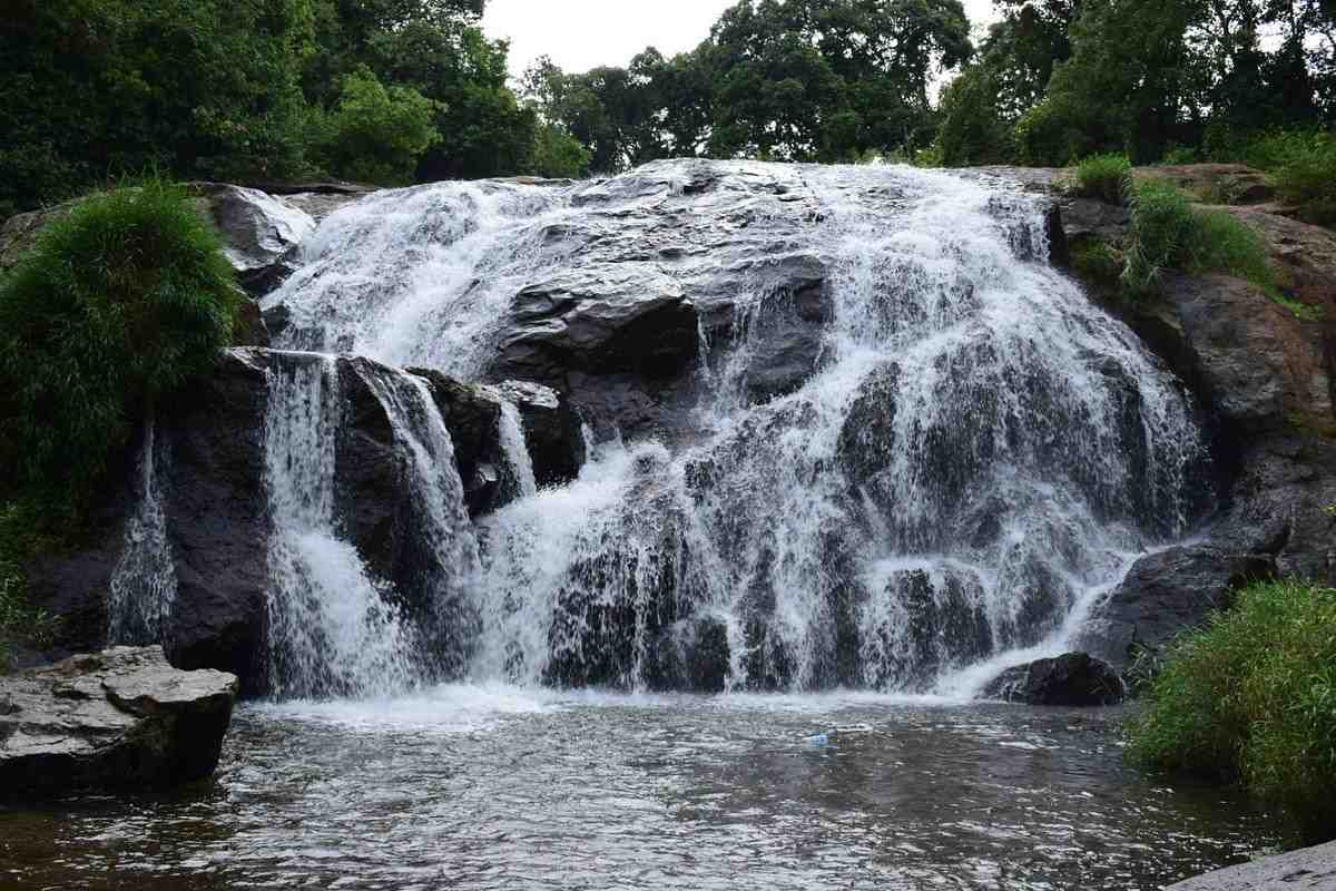
[[[152,417],[144,422],[139,453],[134,513],[126,520],[126,540],[107,586],[107,643],[160,644],[176,600],[176,568],[167,541],[167,518],[156,465]]]

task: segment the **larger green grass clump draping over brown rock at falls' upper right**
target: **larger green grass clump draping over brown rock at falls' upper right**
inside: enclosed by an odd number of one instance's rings
[[[1172,183],[1138,180],[1130,190],[1132,228],[1122,282],[1133,295],[1153,293],[1166,270],[1225,273],[1276,295],[1261,236],[1225,211],[1197,210]]]

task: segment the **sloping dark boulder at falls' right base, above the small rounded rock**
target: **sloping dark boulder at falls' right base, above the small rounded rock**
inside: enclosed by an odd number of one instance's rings
[[[1265,554],[1198,545],[1149,554],[1094,605],[1074,644],[1126,669],[1142,652],[1158,652],[1228,606],[1234,589],[1275,573],[1275,561]]]

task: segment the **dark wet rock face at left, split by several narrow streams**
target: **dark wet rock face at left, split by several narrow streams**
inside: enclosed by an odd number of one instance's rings
[[[269,375],[322,361],[313,354],[239,349],[226,353],[214,375],[163,406],[155,423],[156,474],[175,574],[175,605],[162,643],[172,664],[236,675],[243,692],[263,689],[270,516],[266,490],[265,425]],[[413,590],[420,570],[413,530],[410,473],[395,446],[393,425],[371,382],[393,371],[366,359],[337,361],[342,426],[335,448],[335,513],[359,556],[377,577]],[[496,435],[500,397],[444,375],[428,383],[456,442],[461,480],[478,468],[504,464]],[[546,411],[565,418],[556,394]],[[569,426],[570,421],[560,423]],[[490,426],[489,426],[490,425]],[[577,445],[581,452],[573,452]],[[47,554],[27,568],[35,606],[61,616],[55,645],[60,659],[107,643],[107,592],[126,550],[126,529],[138,500],[135,443],[122,481],[107,493],[90,524],[98,537],[72,553]],[[544,473],[560,478],[582,461],[578,435],[552,438]],[[537,462],[536,462],[537,466]],[[514,497],[493,486],[470,506],[492,509]],[[485,497],[482,497],[485,496]],[[150,641],[142,641],[150,643]]]

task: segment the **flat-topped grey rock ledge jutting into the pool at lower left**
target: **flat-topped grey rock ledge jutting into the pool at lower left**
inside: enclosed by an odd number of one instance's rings
[[[238,683],[115,647],[0,677],[0,795],[166,788],[218,765]]]

